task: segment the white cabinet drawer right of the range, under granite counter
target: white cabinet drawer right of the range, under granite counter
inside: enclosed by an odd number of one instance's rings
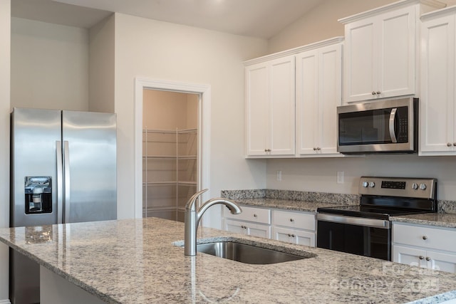
[[[456,252],[456,230],[393,224],[393,242]]]

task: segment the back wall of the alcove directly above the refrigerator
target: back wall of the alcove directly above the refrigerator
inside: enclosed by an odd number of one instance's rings
[[[11,18],[11,105],[88,110],[88,30]]]

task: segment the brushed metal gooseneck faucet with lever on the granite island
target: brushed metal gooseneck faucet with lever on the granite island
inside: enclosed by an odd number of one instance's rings
[[[204,211],[209,209],[210,206],[215,204],[224,204],[228,207],[229,211],[232,214],[240,214],[242,212],[241,207],[239,207],[233,201],[229,201],[228,199],[222,198],[215,198],[209,199],[201,207],[199,207],[197,211],[197,199],[198,196],[207,192],[208,189],[201,190],[193,194],[192,197],[187,201],[185,205],[185,244],[184,244],[184,252],[185,256],[196,256],[197,254],[197,229],[199,220],[201,219],[202,214]]]

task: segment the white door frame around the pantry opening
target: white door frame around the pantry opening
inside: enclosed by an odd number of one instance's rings
[[[135,78],[135,218],[142,218],[142,90],[169,90],[180,93],[199,94],[198,104],[198,142],[197,162],[198,189],[209,188],[210,164],[210,106],[211,87],[195,83],[179,83],[168,80]],[[208,193],[209,192],[209,193]],[[210,191],[204,196],[210,196]]]

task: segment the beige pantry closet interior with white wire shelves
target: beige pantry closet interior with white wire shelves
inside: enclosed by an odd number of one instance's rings
[[[199,180],[199,95],[143,91],[142,216],[184,220]]]

